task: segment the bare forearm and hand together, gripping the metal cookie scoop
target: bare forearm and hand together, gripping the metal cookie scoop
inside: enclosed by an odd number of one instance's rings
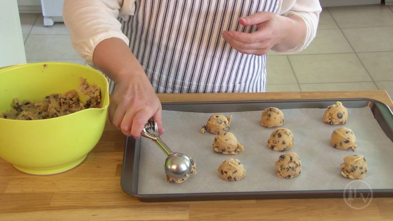
[[[128,45],[118,38],[105,39],[95,47],[93,61],[116,83],[108,111],[110,122],[126,136],[140,138],[153,118],[163,134],[160,100]]]

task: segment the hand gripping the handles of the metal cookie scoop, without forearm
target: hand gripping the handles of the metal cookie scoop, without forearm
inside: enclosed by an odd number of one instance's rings
[[[109,106],[109,120],[126,136],[140,138],[147,121],[152,118],[158,124],[158,132],[164,133],[161,103],[145,73],[125,74],[116,84]]]

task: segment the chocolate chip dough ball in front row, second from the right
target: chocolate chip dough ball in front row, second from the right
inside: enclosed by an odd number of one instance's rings
[[[301,173],[300,158],[296,153],[285,153],[280,155],[275,162],[277,177],[292,178]]]

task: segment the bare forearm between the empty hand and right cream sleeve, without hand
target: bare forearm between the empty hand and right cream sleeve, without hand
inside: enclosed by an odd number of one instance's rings
[[[296,16],[285,16],[285,18],[286,22],[283,28],[286,29],[287,34],[278,44],[273,46],[272,49],[276,52],[285,52],[295,48],[303,42],[306,35],[307,27],[302,18]]]

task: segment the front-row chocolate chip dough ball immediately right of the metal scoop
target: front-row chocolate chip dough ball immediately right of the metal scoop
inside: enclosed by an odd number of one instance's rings
[[[224,160],[217,172],[222,179],[229,181],[240,180],[246,175],[246,170],[240,160],[233,158]]]

